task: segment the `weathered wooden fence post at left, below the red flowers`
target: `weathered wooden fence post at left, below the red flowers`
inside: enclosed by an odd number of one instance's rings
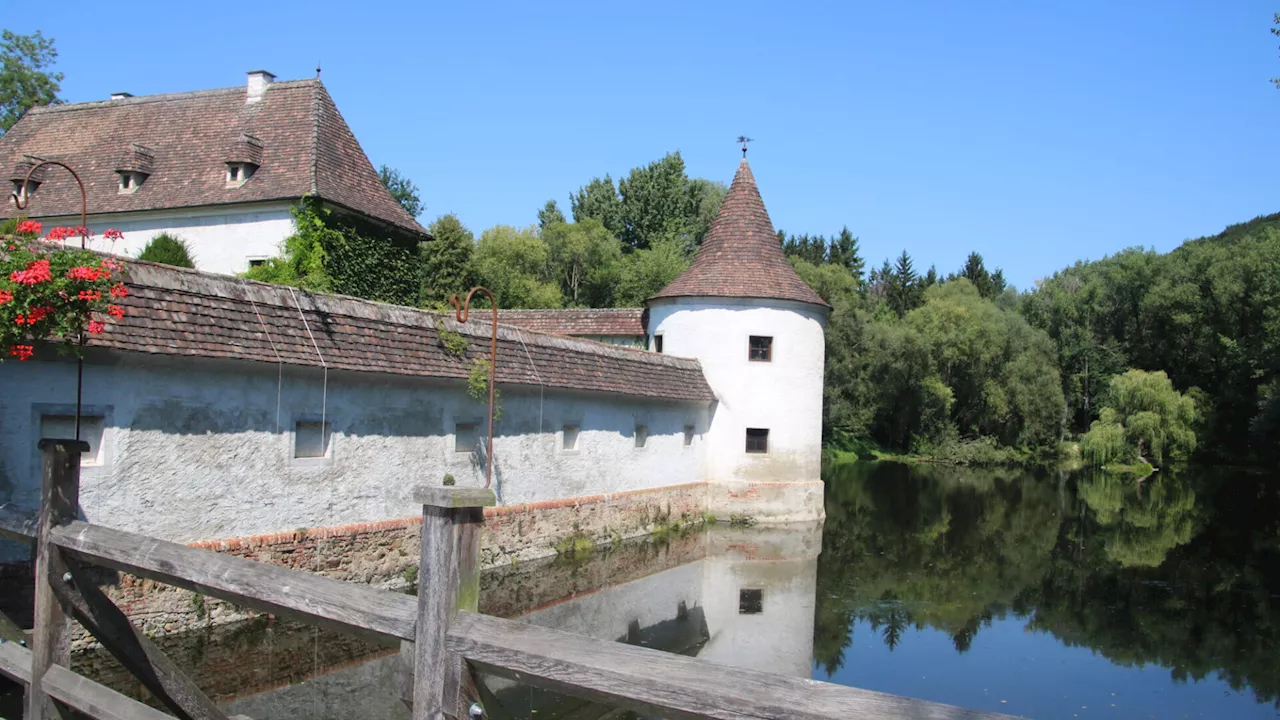
[[[42,439],[40,515],[36,534],[36,629],[32,633],[31,684],[27,685],[27,720],[61,717],[41,687],[51,665],[70,666],[70,618],[63,612],[49,578],[67,573],[61,555],[49,542],[49,532],[76,519],[79,507],[79,459],[88,443],[77,439]]]

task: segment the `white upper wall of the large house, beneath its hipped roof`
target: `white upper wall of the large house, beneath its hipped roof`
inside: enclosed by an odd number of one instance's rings
[[[293,234],[289,208],[288,202],[261,202],[90,215],[88,227],[95,233],[90,247],[133,258],[152,237],[169,233],[187,241],[197,269],[237,274],[248,269],[250,259],[280,254],[280,243]],[[41,222],[49,229],[78,225],[79,218],[41,218]],[[124,240],[104,240],[102,233],[109,228],[123,232]],[[68,245],[78,246],[79,238],[69,240]]]

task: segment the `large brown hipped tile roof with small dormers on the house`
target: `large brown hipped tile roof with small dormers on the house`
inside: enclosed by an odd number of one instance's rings
[[[84,181],[90,214],[311,193],[426,233],[383,187],[319,79],[275,82],[260,101],[246,97],[242,86],[33,108],[0,137],[0,170],[20,179],[33,158],[61,160]],[[261,167],[243,186],[227,187],[227,163],[244,160]],[[119,169],[150,174],[136,192],[122,195]],[[23,214],[78,215],[79,191],[70,176],[59,168],[41,176]],[[15,213],[12,201],[0,208],[0,218]]]

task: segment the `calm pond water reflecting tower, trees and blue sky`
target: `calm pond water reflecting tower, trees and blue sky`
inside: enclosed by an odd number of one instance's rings
[[[826,525],[727,528],[484,577],[481,610],[1027,717],[1280,716],[1280,482],[854,464]],[[407,717],[393,650],[266,619],[166,639],[256,720]],[[137,692],[111,662],[77,664]],[[630,714],[486,678],[497,719]]]

